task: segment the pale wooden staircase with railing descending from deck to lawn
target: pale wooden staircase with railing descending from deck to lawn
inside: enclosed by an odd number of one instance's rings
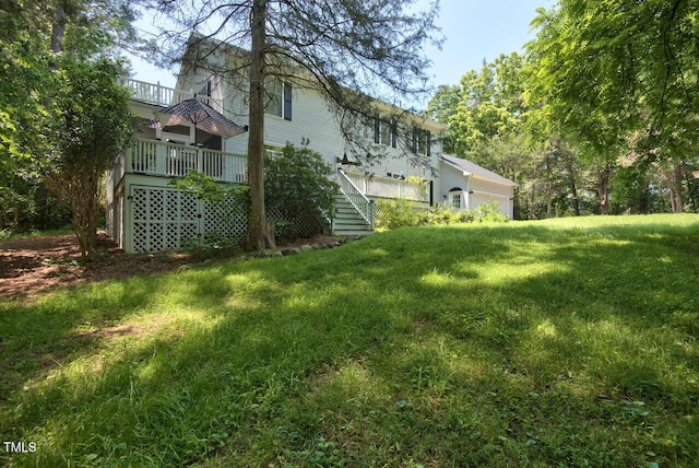
[[[374,202],[350,180],[337,172],[340,194],[335,196],[335,217],[332,220],[333,235],[366,236],[374,234]]]

